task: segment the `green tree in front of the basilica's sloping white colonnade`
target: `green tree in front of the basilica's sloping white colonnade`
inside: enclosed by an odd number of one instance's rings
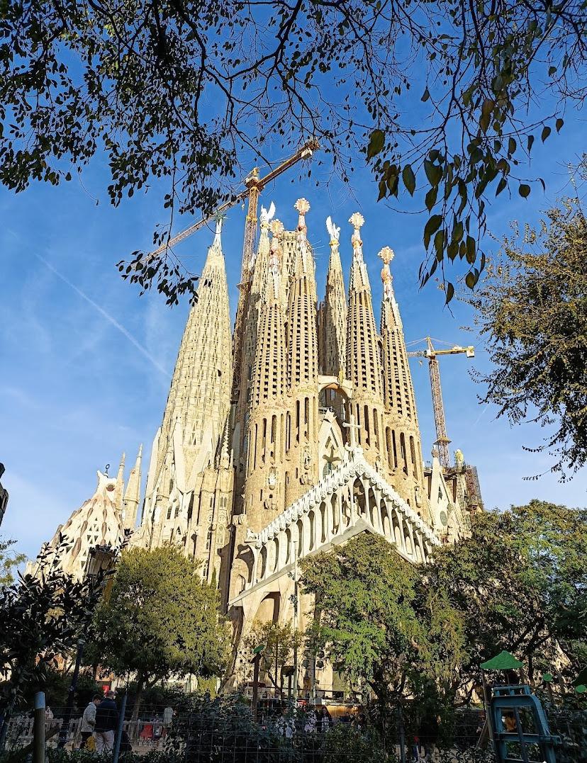
[[[421,591],[420,568],[385,539],[363,533],[302,560],[302,572],[304,590],[316,595],[316,645],[381,703],[421,678],[450,674],[463,648],[458,617],[442,597]]]

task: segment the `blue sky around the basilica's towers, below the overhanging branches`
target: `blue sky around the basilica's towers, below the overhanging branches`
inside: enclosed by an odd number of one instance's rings
[[[565,165],[584,150],[584,130],[581,118],[567,114],[560,137],[535,146],[533,170],[547,182],[547,192],[536,186],[527,201],[502,194],[489,211],[494,233],[508,230],[511,219],[537,221],[541,210],[569,192]],[[149,250],[153,225],[166,217],[156,192],[111,208],[107,182],[108,170],[97,156],[82,182],[74,179],[60,188],[37,184],[21,195],[0,190],[0,460],[10,492],[2,533],[17,539],[19,549],[31,556],[92,495],[96,469],[109,463],[115,470],[122,451],[130,468],[140,443],[150,452],[188,311],[186,301],[171,309],[156,293],[140,298],[136,288],[121,280],[115,263],[137,248]],[[422,216],[376,204],[376,184],[366,169],[355,173],[352,188],[337,182],[326,167],[314,168],[311,182],[300,182],[296,172],[289,172],[266,189],[263,202],[273,199],[276,216],[292,228],[297,219],[292,205],[300,196],[311,203],[308,235],[316,253],[319,295],[328,255],[325,218],[331,214],[342,229],[347,278],[352,251],[347,220],[360,210],[366,218],[363,252],[377,314],[381,262],[376,253],[389,245],[395,250],[392,272],[406,340],[431,334],[476,345],[473,362],[464,356],[443,359],[441,374],[451,449],[460,447],[479,468],[485,505],[506,508],[540,497],[585,506],[585,471],[562,485],[551,475],[524,481],[550,464],[546,455],[522,449],[540,441],[540,430],[531,424],[511,429],[505,420],[495,420],[495,410],[479,405],[481,390],[468,370],[472,365],[487,368],[487,357],[476,336],[463,330],[471,323],[468,309],[453,304],[451,314],[434,283],[418,289]],[[191,222],[178,221],[175,230]],[[244,211],[234,208],[223,234],[233,311],[243,224]],[[211,238],[204,229],[177,249],[195,272]],[[486,246],[495,248],[491,242]],[[427,365],[414,360],[412,375],[427,458],[434,440]],[[144,463],[144,477],[146,472]]]

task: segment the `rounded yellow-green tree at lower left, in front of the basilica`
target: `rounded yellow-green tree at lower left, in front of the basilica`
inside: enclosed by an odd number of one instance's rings
[[[135,712],[141,691],[170,674],[206,677],[224,670],[228,635],[218,591],[197,570],[173,546],[130,549],[98,607],[89,658],[137,677]]]

